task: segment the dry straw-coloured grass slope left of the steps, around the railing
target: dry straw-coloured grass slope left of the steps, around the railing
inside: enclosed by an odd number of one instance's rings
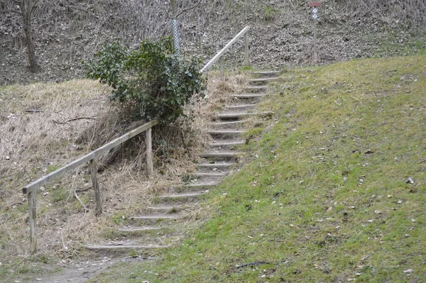
[[[39,253],[53,258],[80,257],[83,243],[99,243],[107,231],[122,225],[122,216],[140,213],[151,204],[153,195],[195,170],[194,162],[209,141],[203,133],[205,123],[226,101],[226,94],[240,91],[235,79],[220,81],[218,77],[212,72],[211,91],[206,99],[195,99],[187,106],[187,119],[153,128],[154,177],[146,177],[145,135],[125,143],[114,162],[99,172],[104,207],[101,217],[94,216],[94,192],[87,166],[38,190]],[[9,260],[8,267],[13,269],[25,260],[29,248],[28,206],[21,187],[137,123],[124,119],[125,111],[109,104],[109,89],[89,80],[11,86],[0,92],[0,257]],[[25,109],[55,112],[28,113]],[[93,116],[96,120],[53,122]],[[188,221],[189,226],[194,225],[191,223]]]

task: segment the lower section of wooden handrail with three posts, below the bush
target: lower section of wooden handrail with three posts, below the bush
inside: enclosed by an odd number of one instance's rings
[[[111,148],[115,148],[116,146],[121,145],[121,143],[124,143],[126,140],[129,140],[133,138],[134,136],[144,131],[147,131],[146,160],[147,160],[148,174],[153,174],[151,128],[155,125],[158,125],[158,123],[159,123],[158,120],[145,123],[142,126],[139,126],[138,128],[135,128],[134,130],[129,131],[128,133],[125,133],[124,135],[121,135],[121,137],[116,138],[115,140],[112,140],[106,145],[102,145],[102,147],[98,148],[97,150],[93,150],[92,152],[89,152],[87,155],[84,155],[83,157],[80,157],[79,159],[74,160],[63,167],[60,167],[58,170],[55,170],[54,172],[51,172],[45,177],[41,177],[40,179],[32,182],[31,184],[26,185],[26,187],[23,187],[22,193],[28,195],[27,197],[28,197],[28,206],[29,206],[29,214],[30,214],[29,222],[30,222],[31,253],[35,253],[37,251],[37,235],[36,235],[37,224],[35,221],[36,219],[35,191],[41,186],[43,186],[43,184],[48,184],[48,182],[52,181],[53,179],[57,179],[63,174],[70,172],[71,170],[79,167],[80,165],[83,165],[84,163],[89,162],[90,175],[92,177],[95,201],[97,206],[95,214],[96,216],[99,216],[102,213],[102,204],[101,204],[101,196],[99,192],[99,185],[97,181],[97,165],[95,162],[95,158],[99,157],[104,152],[108,152],[109,150],[111,150]]]

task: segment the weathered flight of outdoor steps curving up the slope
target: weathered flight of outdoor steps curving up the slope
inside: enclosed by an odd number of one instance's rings
[[[170,187],[168,192],[155,197],[155,204],[141,215],[131,216],[131,224],[119,229],[126,235],[121,242],[102,245],[86,245],[87,250],[144,250],[168,248],[173,245],[173,232],[180,223],[191,217],[191,211],[198,207],[200,196],[207,194],[219,184],[229,171],[238,166],[245,152],[236,146],[246,143],[243,134],[249,118],[261,119],[272,112],[257,112],[255,107],[263,96],[268,95],[268,82],[278,78],[280,72],[252,72],[244,94],[231,95],[232,103],[223,107],[209,123],[207,134],[212,135],[210,149],[200,155],[204,160],[196,165],[197,171],[190,174],[188,184]]]

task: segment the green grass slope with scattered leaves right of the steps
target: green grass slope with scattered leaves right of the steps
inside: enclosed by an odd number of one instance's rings
[[[244,145],[258,158],[210,194],[209,221],[90,282],[422,282],[425,70],[424,56],[290,70],[296,87],[264,101],[275,121]]]

